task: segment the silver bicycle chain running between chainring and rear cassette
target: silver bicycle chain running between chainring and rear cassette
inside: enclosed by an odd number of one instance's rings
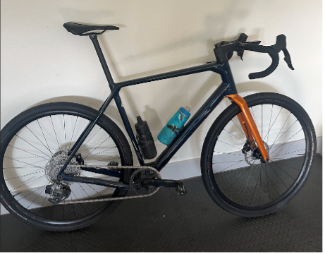
[[[85,165],[85,167],[97,168],[98,166]],[[139,166],[139,167],[136,167],[136,166],[116,166],[116,167],[111,167],[111,166],[109,166],[108,168],[109,169],[116,169],[116,170],[118,170],[118,169],[122,170],[123,168],[124,169],[125,168],[146,169],[146,170],[154,171],[156,174],[159,174],[159,171],[157,171],[157,169],[154,169],[153,167],[149,167],[149,166]],[[160,174],[159,174],[159,176],[160,176]],[[157,193],[157,191],[159,191],[159,188],[157,188],[157,190],[154,191],[153,193],[149,193],[147,195],[132,195],[132,196],[128,196],[128,197],[118,197],[118,198],[97,198],[97,199],[92,199],[92,200],[65,201],[65,202],[59,203],[58,205],[74,205],[74,204],[87,203],[87,202],[107,202],[107,201],[128,200],[128,199],[135,199],[135,198],[147,198],[147,197],[150,197],[150,196],[154,195],[155,193]]]

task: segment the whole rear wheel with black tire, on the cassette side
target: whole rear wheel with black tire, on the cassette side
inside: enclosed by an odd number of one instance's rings
[[[45,187],[54,183],[67,152],[97,111],[81,104],[56,102],[28,109],[1,130],[1,203],[25,222],[51,231],[69,231],[89,226],[113,212],[121,201],[59,205],[49,202]],[[132,166],[130,145],[122,131],[107,116],[102,116],[78,153],[85,165],[106,166],[109,162]],[[78,164],[72,159],[70,164]],[[74,176],[119,181],[112,176],[66,169]],[[65,172],[66,172],[65,171]],[[70,188],[67,201],[120,197],[116,188],[87,183],[65,183]]]

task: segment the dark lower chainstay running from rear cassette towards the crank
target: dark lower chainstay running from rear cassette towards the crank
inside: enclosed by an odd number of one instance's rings
[[[67,176],[66,174],[62,174],[62,179],[60,181],[71,181],[77,183],[88,183],[88,184],[95,184],[99,186],[106,186],[111,188],[119,188],[125,191],[130,191],[131,188],[128,184],[116,182],[116,181],[109,181],[104,179],[94,179],[92,177],[82,177],[82,176]]]

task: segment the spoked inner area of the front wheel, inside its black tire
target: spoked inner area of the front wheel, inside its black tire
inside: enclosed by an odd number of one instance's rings
[[[307,132],[287,104],[255,102],[249,107],[267,144],[270,162],[264,164],[250,152],[245,155],[241,151],[247,139],[238,111],[214,140],[210,179],[219,196],[233,207],[264,210],[287,198],[302,179],[309,150]]]

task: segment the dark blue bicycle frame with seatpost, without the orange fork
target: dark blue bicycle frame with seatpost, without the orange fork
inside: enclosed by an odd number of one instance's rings
[[[195,132],[195,130],[200,126],[200,124],[204,121],[204,119],[209,116],[211,111],[214,110],[214,108],[221,102],[221,100],[227,96],[227,95],[235,95],[237,94],[237,90],[235,87],[235,82],[233,80],[233,75],[231,73],[231,68],[229,66],[228,61],[226,63],[207,63],[203,64],[201,66],[195,66],[191,68],[184,68],[178,71],[171,71],[168,73],[161,73],[158,75],[150,75],[144,78],[137,78],[133,80],[124,81],[121,83],[114,83],[113,78],[111,77],[111,73],[109,71],[109,67],[107,66],[107,63],[104,59],[104,55],[102,53],[102,49],[99,46],[99,42],[97,40],[97,35],[90,35],[90,40],[92,40],[92,43],[94,44],[94,48],[96,49],[97,55],[99,57],[99,61],[102,64],[102,68],[104,70],[104,73],[106,75],[106,79],[109,83],[109,87],[111,88],[111,94],[106,99],[102,107],[99,109],[97,119],[90,122],[88,126],[85,128],[85,131],[80,135],[77,142],[73,147],[71,148],[70,156],[68,157],[66,163],[63,165],[61,171],[58,174],[58,180],[66,180],[66,181],[79,181],[79,182],[85,182],[85,183],[93,183],[93,184],[99,184],[104,186],[112,186],[111,182],[109,181],[98,181],[94,182],[94,179],[88,179],[85,177],[69,177],[63,174],[64,169],[66,169],[67,165],[70,163],[70,160],[75,156],[76,152],[78,152],[78,149],[82,145],[82,143],[87,138],[87,135],[92,131],[92,128],[94,128],[97,121],[100,119],[102,114],[104,114],[104,111],[109,106],[112,99],[115,100],[119,114],[121,115],[121,118],[123,120],[123,124],[125,126],[125,130],[127,131],[130,140],[133,143],[133,147],[135,149],[135,153],[137,155],[137,159],[140,162],[141,166],[150,166],[154,167],[158,171],[161,171],[166,164],[169,162],[171,157],[176,154],[176,152],[180,149],[180,147],[190,138],[190,135]],[[206,102],[200,107],[200,109],[192,116],[190,121],[185,124],[184,128],[178,133],[176,138],[173,139],[170,145],[166,147],[166,149],[161,152],[161,155],[156,159],[155,162],[150,162],[148,164],[145,164],[145,161],[141,155],[139,146],[137,145],[137,141],[135,139],[135,135],[133,133],[133,130],[130,126],[130,121],[128,120],[128,116],[125,112],[125,109],[123,107],[121,97],[119,95],[119,92],[121,88],[127,87],[129,85],[137,85],[147,82],[152,82],[156,80],[163,80],[167,78],[176,78],[183,75],[190,75],[195,73],[202,73],[205,71],[212,71],[214,73],[218,73],[221,75],[222,83],[219,85],[219,87],[216,88],[216,90],[212,93],[212,95],[207,99]],[[85,169],[87,170],[87,169]],[[100,169],[90,169],[89,171],[93,171],[98,174],[106,174],[110,176],[117,176],[116,171],[110,171],[110,170],[100,170]],[[116,187],[116,186],[115,186]],[[124,184],[120,184],[120,188],[128,188]]]

